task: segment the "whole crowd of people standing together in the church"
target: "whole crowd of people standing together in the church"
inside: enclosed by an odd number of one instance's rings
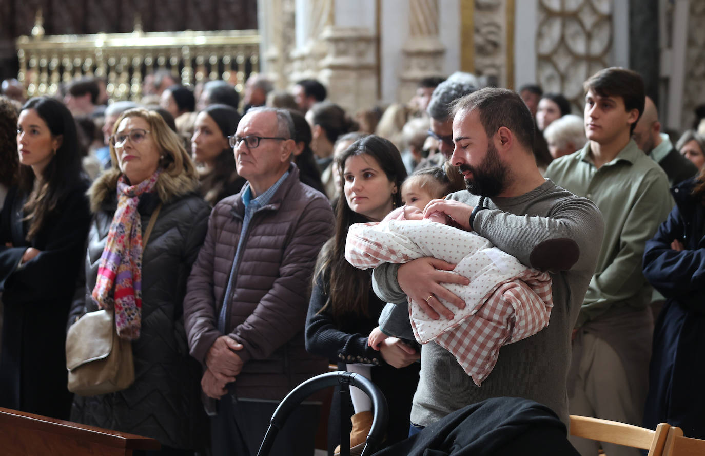
[[[705,121],[663,131],[637,73],[591,76],[582,115],[469,73],[354,115],[313,79],[253,75],[243,100],[145,79],[139,103],[95,78],[30,100],[2,85],[0,407],[156,438],[154,454],[255,455],[278,402],[337,364],[384,392],[386,446],[493,397],[705,438]],[[379,257],[359,227],[404,240]],[[419,246],[455,232],[483,259]],[[517,289],[541,324],[501,306]],[[72,395],[66,331],[104,308],[134,381]],[[465,350],[488,337],[493,356]],[[273,454],[312,455],[328,416],[337,455],[337,394],[296,409]],[[359,454],[372,404],[350,397]]]

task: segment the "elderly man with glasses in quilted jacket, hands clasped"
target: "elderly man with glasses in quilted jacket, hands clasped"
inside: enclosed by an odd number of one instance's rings
[[[291,162],[294,128],[283,109],[255,108],[229,137],[242,191],[213,208],[184,300],[190,353],[204,368],[214,455],[255,455],[290,390],[324,372],[306,352],[308,289],[333,211],[301,184]],[[272,454],[314,451],[320,404],[290,416]]]

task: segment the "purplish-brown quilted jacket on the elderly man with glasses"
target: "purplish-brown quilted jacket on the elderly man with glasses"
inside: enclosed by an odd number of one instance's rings
[[[243,191],[213,208],[188,280],[186,330],[202,364],[222,335],[216,322],[243,226]],[[326,360],[306,352],[303,330],[316,257],[332,231],[328,199],[301,184],[292,164],[269,204],[252,215],[232,287],[226,331],[244,346],[245,365],[232,385],[239,397],[281,400],[325,370]]]

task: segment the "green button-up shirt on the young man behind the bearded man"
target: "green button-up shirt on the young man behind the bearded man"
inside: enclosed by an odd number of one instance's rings
[[[605,221],[597,268],[576,326],[611,308],[649,305],[651,287],[642,274],[644,245],[673,207],[663,169],[634,140],[597,169],[588,141],[582,150],[553,160],[544,176],[592,200]]]

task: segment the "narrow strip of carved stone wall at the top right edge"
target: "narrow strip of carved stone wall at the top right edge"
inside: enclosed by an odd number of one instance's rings
[[[705,1],[691,1],[685,58],[682,128],[691,128],[693,109],[705,103]]]

